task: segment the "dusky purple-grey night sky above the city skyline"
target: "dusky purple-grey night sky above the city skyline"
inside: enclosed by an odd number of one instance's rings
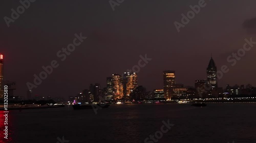
[[[106,87],[106,77],[138,65],[140,55],[152,58],[138,73],[138,84],[147,90],[163,89],[162,71],[176,71],[177,83],[194,86],[206,78],[212,58],[229,72],[219,80],[226,84],[256,85],[256,45],[231,66],[227,57],[243,47],[244,39],[256,41],[256,1],[207,0],[206,6],[177,32],[174,22],[198,5],[187,1],[124,1],[112,10],[109,1],[35,1],[10,27],[4,17],[18,1],[3,1],[0,21],[0,53],[5,54],[5,80],[16,81],[16,95],[26,96],[26,83],[42,66],[58,61],[59,67],[33,94],[75,95],[90,83]],[[74,34],[87,37],[65,61],[56,53],[73,42]]]

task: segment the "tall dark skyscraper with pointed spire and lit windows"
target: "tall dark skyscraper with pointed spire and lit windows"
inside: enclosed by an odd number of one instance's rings
[[[211,85],[211,89],[218,88],[217,67],[215,65],[214,59],[212,59],[212,56],[207,67],[207,81],[208,84]]]

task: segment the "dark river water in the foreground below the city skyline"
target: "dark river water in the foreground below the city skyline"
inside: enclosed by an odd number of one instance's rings
[[[120,104],[97,110],[97,115],[93,109],[73,110],[72,106],[30,109],[9,113],[8,137],[14,143],[55,143],[62,136],[70,143],[139,143],[160,131],[162,121],[169,120],[175,125],[158,142],[256,142],[255,111],[255,103],[211,103],[203,108],[190,104]],[[1,132],[3,127],[1,115]],[[0,141],[8,142],[0,136]]]

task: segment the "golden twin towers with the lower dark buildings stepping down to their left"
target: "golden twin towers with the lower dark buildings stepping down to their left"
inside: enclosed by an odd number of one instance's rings
[[[76,97],[69,99],[81,102],[98,102],[103,100],[131,99],[131,94],[137,89],[137,74],[125,72],[122,75],[112,74],[106,78],[106,88],[99,83],[90,84],[89,89],[83,90]]]

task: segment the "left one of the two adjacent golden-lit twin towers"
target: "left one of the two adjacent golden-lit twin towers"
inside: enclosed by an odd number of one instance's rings
[[[114,97],[115,99],[123,98],[123,79],[119,74],[112,75],[113,80],[113,89],[114,89]]]

